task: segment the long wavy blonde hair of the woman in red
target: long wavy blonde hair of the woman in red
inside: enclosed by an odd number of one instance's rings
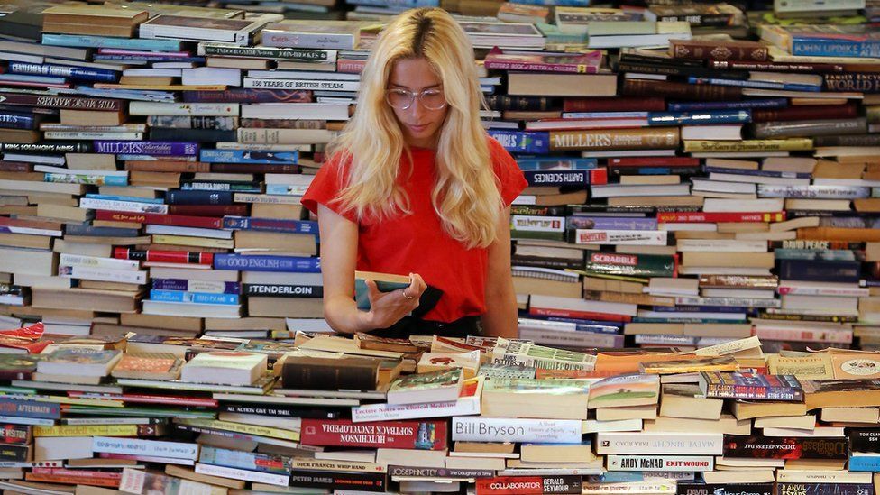
[[[343,133],[326,149],[338,153],[344,174],[338,200],[358,218],[410,213],[397,184],[400,158],[412,157],[385,90],[397,60],[424,58],[435,69],[448,105],[439,130],[436,183],[431,202],[443,229],[468,249],[487,247],[497,235],[503,209],[489,143],[480,123],[485,99],[471,41],[444,10],[428,7],[395,17],[380,33],[364,66],[357,109]],[[344,171],[343,171],[344,170]]]

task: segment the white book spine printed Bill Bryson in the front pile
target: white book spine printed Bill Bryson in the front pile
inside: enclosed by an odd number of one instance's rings
[[[531,442],[580,444],[577,419],[453,417],[453,440],[462,442]]]

